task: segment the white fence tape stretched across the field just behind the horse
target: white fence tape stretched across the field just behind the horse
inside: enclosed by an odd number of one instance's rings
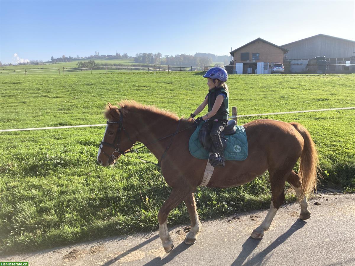
[[[232,107],[232,108],[234,109],[236,107]],[[333,110],[345,110],[345,109],[355,109],[355,106],[354,107],[318,109],[318,110],[278,112],[278,113],[257,113],[257,114],[253,114],[253,115],[232,115],[232,116],[229,116],[229,118],[250,117],[250,116],[265,116],[265,115],[282,115],[282,114],[286,114],[286,113],[306,113],[306,112],[320,112],[320,111],[333,111]],[[76,127],[101,127],[101,126],[106,126],[106,125],[107,124],[93,124],[93,125],[60,126],[60,127],[15,128],[15,129],[0,129],[0,132],[32,131],[32,130],[42,130],[42,129],[59,129],[59,128],[76,128]]]

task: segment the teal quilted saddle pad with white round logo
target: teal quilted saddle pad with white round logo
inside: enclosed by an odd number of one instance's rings
[[[198,139],[202,124],[199,124],[190,137],[189,150],[193,157],[198,159],[208,159],[209,151],[205,150]],[[243,161],[248,156],[248,141],[243,126],[235,126],[236,132],[233,135],[225,136],[227,147],[224,150],[224,157],[227,161]]]

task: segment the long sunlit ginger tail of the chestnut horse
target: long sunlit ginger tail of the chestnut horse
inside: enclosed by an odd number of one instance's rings
[[[301,134],[305,141],[300,159],[300,170],[298,172],[301,180],[301,195],[298,198],[301,200],[306,194],[316,189],[319,160],[316,145],[307,129],[299,123],[291,123],[291,125]]]

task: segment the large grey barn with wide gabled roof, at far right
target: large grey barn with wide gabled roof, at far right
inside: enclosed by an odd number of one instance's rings
[[[325,56],[327,73],[355,72],[355,41],[318,34],[292,43],[281,45],[288,49],[285,55],[285,71],[303,72],[309,59]],[[353,57],[353,58],[351,58]]]

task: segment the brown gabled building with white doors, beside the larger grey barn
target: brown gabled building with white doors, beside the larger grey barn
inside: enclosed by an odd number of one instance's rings
[[[286,52],[286,48],[257,38],[230,52],[230,68],[233,64],[235,74],[270,74],[274,63],[283,63]]]

